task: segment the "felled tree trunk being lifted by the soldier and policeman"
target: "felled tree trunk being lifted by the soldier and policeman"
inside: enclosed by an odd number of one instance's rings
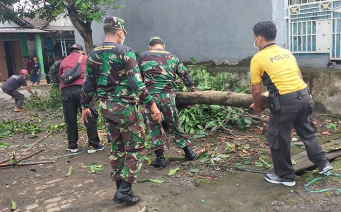
[[[262,93],[262,108],[268,108],[267,92]],[[189,105],[221,105],[249,108],[253,103],[252,95],[245,93],[234,93],[226,91],[198,91],[176,93],[176,107],[186,108]]]

